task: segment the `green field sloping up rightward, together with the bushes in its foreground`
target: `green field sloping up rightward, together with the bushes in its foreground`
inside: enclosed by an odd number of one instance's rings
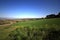
[[[60,40],[60,18],[0,26],[0,40]]]

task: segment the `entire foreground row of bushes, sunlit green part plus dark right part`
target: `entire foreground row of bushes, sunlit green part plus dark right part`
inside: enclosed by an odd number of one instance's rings
[[[18,28],[9,34],[11,40],[60,40],[60,31],[43,28]]]

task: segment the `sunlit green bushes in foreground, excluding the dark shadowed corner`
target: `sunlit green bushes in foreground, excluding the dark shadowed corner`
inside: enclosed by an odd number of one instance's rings
[[[9,37],[12,38],[12,40],[41,40],[43,37],[43,31],[40,31],[39,28],[31,29],[29,27],[24,27],[16,29],[9,34]]]

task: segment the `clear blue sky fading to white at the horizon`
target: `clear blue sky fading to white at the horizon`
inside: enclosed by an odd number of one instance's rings
[[[41,18],[60,12],[60,0],[0,0],[0,17]]]

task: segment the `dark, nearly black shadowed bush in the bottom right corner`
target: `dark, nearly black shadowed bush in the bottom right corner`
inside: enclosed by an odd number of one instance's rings
[[[43,40],[60,40],[60,30],[50,29]]]

